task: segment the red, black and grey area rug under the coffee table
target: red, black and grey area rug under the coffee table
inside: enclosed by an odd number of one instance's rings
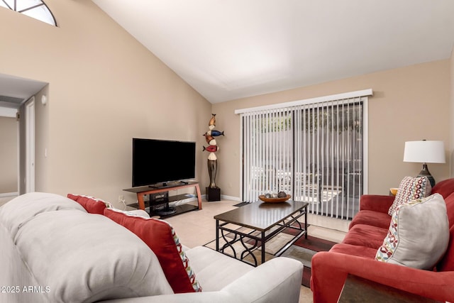
[[[242,232],[247,232],[247,228],[241,227]],[[233,234],[228,233],[226,234],[227,238],[233,238]],[[280,248],[284,247],[289,241],[293,238],[292,235],[289,233],[279,233],[274,238],[270,239],[265,246],[265,262],[272,258],[275,258],[275,254],[280,250]],[[219,240],[219,246],[222,247],[223,244],[226,242],[221,238]],[[328,251],[330,250],[333,245],[336,244],[335,242],[327,241],[322,238],[316,238],[313,236],[308,235],[307,239],[302,236],[299,238],[292,246],[287,248],[287,250],[282,253],[282,257],[292,258],[295,260],[299,260],[304,265],[303,270],[303,279],[301,281],[301,285],[305,287],[310,287],[311,281],[311,259],[312,256],[315,255],[319,251]],[[253,241],[246,241],[246,246],[251,247],[253,245]],[[258,244],[260,245],[260,243]],[[216,240],[210,241],[206,243],[204,246],[216,250]],[[233,251],[234,250],[234,251]],[[236,255],[236,258],[239,258],[241,253],[245,251],[243,245],[238,241],[233,244],[233,247],[228,246],[224,250],[226,255],[230,255],[233,257]],[[262,251],[260,248],[253,251],[255,258],[258,260],[258,264],[260,264],[261,260],[261,253]],[[254,263],[253,257],[251,255],[245,256],[244,260],[248,263]]]

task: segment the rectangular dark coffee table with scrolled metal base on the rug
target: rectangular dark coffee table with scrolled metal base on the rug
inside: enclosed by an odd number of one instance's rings
[[[292,240],[285,244],[275,253],[275,256],[282,255],[301,236],[307,238],[307,205],[306,202],[287,200],[287,202],[267,203],[254,202],[245,206],[227,211],[223,214],[214,216],[216,219],[216,250],[224,253],[226,248],[233,250],[233,258],[245,261],[245,257],[250,255],[253,258],[253,265],[258,265],[258,260],[253,254],[254,250],[260,248],[261,263],[265,263],[265,245],[271,238],[277,236],[286,228],[290,228],[294,233]],[[298,220],[304,215],[304,225]],[[243,231],[242,228],[249,231]],[[233,238],[227,237],[232,233]],[[223,239],[226,243],[219,247],[219,240]],[[237,256],[234,243],[240,242],[243,251]],[[246,262],[246,261],[245,261]],[[248,262],[247,262],[248,263]]]

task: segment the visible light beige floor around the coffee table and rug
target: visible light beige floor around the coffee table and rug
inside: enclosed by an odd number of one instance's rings
[[[9,202],[13,197],[0,197],[0,206]],[[214,216],[231,209],[236,209],[238,202],[222,200],[217,202],[202,202],[202,209],[189,211],[184,214],[167,218],[177,232],[181,243],[189,248],[202,246],[216,238],[216,221]],[[341,221],[320,216],[308,217],[308,233],[312,236],[324,238],[329,241],[341,242],[348,228],[348,221]],[[321,227],[329,226],[329,228]],[[312,292],[309,288],[301,286],[299,302],[311,303]]]

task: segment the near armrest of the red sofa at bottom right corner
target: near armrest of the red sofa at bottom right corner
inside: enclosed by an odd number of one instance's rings
[[[454,272],[418,270],[374,259],[320,252],[312,258],[314,302],[337,302],[348,274],[438,301],[454,301]]]

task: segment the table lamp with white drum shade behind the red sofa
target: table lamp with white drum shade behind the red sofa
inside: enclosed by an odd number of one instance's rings
[[[404,148],[404,162],[423,163],[418,177],[427,177],[431,186],[435,185],[427,163],[445,163],[445,145],[443,141],[406,141]]]

